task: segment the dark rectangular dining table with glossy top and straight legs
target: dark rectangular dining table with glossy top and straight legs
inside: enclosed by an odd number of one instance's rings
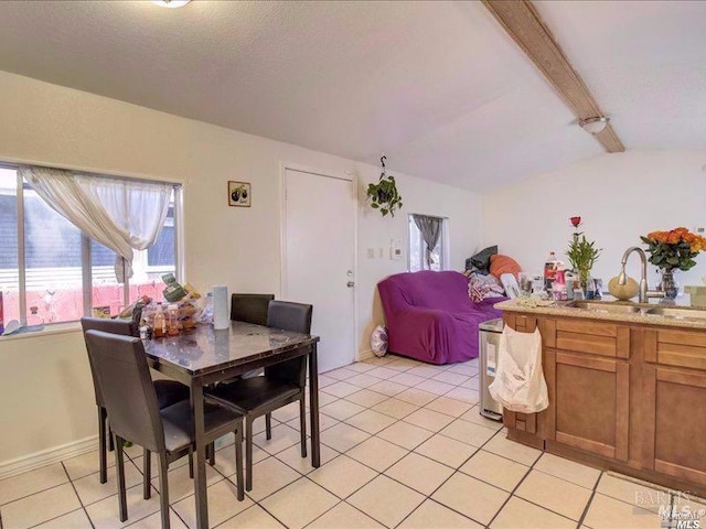
[[[204,436],[204,387],[232,379],[279,361],[308,357],[309,413],[311,418],[311,464],[319,467],[318,336],[231,322],[224,330],[200,324],[176,336],[145,339],[151,368],[178,380],[191,390],[195,435],[194,489],[196,527],[207,529],[206,443]]]

